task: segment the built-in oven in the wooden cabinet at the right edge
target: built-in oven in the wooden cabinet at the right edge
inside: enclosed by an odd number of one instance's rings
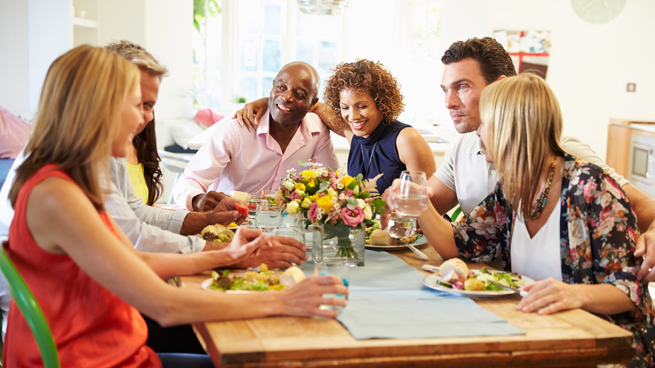
[[[632,134],[628,167],[630,183],[655,196],[655,137]]]

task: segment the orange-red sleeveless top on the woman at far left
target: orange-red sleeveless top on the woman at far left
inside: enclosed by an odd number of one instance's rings
[[[43,310],[62,367],[160,368],[157,354],[145,346],[147,327],[138,310],[90,278],[68,255],[48,253],[32,238],[26,220],[28,196],[52,176],[73,181],[50,164],[24,183],[6,251]],[[118,238],[106,213],[98,215]],[[7,321],[3,367],[42,367],[39,348],[14,301]]]

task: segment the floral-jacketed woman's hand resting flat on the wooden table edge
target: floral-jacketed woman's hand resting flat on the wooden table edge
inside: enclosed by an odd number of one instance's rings
[[[528,295],[521,299],[516,309],[527,313],[536,310],[538,314],[553,314],[560,310],[581,308],[586,293],[580,286],[584,285],[565,284],[553,278],[524,285],[521,290],[527,291]]]

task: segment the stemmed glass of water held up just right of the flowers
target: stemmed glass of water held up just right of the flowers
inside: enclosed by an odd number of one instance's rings
[[[387,231],[392,238],[405,238],[416,231],[416,217],[428,209],[428,181],[425,173],[404,170],[396,189],[396,215],[390,217]]]

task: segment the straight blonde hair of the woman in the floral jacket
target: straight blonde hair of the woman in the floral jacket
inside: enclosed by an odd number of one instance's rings
[[[533,212],[540,172],[559,146],[562,114],[546,81],[521,74],[489,84],[480,96],[480,120],[487,128],[487,150],[512,206],[523,217]]]

